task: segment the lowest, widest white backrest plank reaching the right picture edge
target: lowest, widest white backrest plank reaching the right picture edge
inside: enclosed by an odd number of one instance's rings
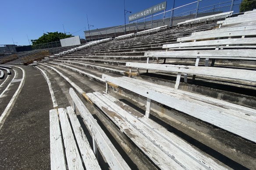
[[[241,117],[235,113],[229,112],[226,108],[216,107],[203,101],[191,100],[189,97],[184,98],[183,96],[175,96],[174,94],[170,95],[162,91],[151,90],[149,88],[142,87],[141,85],[138,86],[138,84],[135,85],[128,83],[127,80],[124,81],[120,78],[114,78],[104,74],[102,78],[108,82],[116,84],[117,86],[150,98],[153,101],[174,108],[202,121],[206,121],[236,135],[240,135],[245,139],[256,142],[256,136],[253,135],[256,131],[255,117],[248,116],[246,114],[241,114]]]

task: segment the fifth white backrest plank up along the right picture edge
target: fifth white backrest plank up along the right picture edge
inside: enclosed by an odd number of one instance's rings
[[[256,35],[256,30],[243,30],[243,31],[230,31],[230,32],[220,32],[213,34],[203,34],[203,35],[192,35],[188,37],[181,37],[177,39],[177,42],[191,41],[197,39],[208,39],[208,38],[221,38],[221,37],[234,37],[234,36],[247,36]]]

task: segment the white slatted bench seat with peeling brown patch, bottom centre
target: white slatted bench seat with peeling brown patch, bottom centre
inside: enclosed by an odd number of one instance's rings
[[[160,169],[225,169],[114,97],[103,92],[86,95]]]

